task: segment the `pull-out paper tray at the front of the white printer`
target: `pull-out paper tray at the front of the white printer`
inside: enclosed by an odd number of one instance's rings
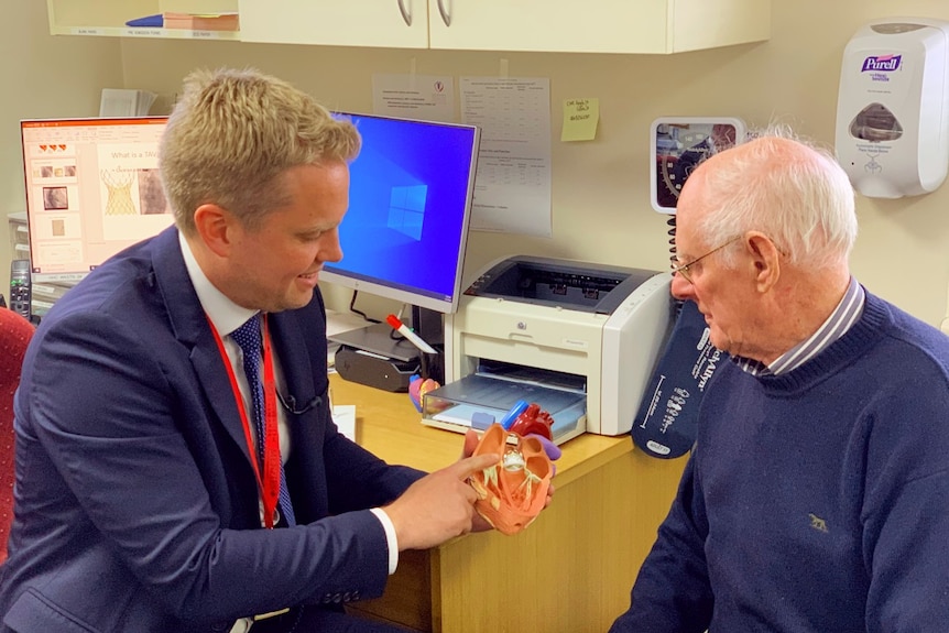
[[[463,433],[471,428],[473,413],[487,413],[500,422],[519,400],[537,403],[550,414],[556,444],[587,429],[586,394],[483,374],[466,375],[426,393],[422,397],[422,423]]]

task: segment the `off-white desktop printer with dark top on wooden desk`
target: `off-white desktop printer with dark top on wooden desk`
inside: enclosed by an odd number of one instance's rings
[[[672,327],[670,280],[526,255],[490,264],[445,317],[446,383],[424,395],[423,423],[479,428],[525,400],[553,416],[557,444],[629,433]]]

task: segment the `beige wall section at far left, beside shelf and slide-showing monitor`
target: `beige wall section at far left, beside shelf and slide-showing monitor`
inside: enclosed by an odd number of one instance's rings
[[[53,37],[46,3],[4,2],[0,21],[0,292],[10,287],[7,216],[25,210],[20,119],[95,117],[102,88],[122,87],[119,40]]]

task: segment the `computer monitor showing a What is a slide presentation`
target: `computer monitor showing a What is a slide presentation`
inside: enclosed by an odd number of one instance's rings
[[[34,282],[79,281],[173,222],[159,178],[164,117],[20,122]]]

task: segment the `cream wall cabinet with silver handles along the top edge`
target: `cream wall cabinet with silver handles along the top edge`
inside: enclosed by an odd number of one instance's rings
[[[174,0],[240,32],[130,29],[172,0],[47,0],[54,34],[459,51],[668,54],[767,40],[771,0]]]

